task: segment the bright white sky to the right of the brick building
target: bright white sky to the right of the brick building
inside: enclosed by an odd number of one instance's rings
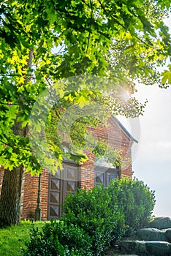
[[[166,20],[171,29],[171,17]],[[148,99],[140,116],[138,148],[133,148],[134,176],[156,191],[155,216],[171,217],[171,87],[138,86],[137,99]],[[134,125],[133,125],[134,126]],[[129,124],[130,127],[130,124]],[[132,132],[128,127],[129,131]]]

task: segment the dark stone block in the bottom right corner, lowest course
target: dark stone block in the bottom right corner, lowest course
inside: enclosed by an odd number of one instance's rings
[[[146,242],[146,249],[151,255],[170,256],[170,244],[167,242],[149,241]]]

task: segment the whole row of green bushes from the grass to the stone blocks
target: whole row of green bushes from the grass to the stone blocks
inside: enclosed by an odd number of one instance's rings
[[[66,197],[60,222],[46,223],[42,232],[33,227],[24,256],[101,255],[111,241],[145,225],[154,204],[154,192],[138,180],[78,189]]]

